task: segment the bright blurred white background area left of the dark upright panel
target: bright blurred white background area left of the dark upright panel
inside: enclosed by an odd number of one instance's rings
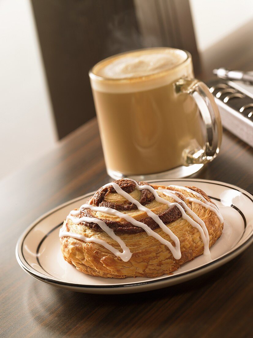
[[[0,178],[56,142],[31,4],[0,0]]]

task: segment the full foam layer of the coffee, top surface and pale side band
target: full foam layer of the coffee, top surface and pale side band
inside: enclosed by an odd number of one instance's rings
[[[181,77],[193,78],[191,57],[176,48],[148,48],[118,54],[89,72],[93,90],[130,93],[165,86]]]

